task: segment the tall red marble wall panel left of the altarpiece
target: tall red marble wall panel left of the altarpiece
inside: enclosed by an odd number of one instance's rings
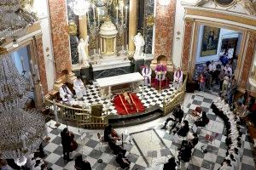
[[[71,71],[66,0],[49,0],[49,20],[55,57],[56,78],[61,71]]]

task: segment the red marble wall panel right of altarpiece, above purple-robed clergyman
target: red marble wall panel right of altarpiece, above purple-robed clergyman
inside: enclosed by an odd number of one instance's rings
[[[159,1],[156,2],[154,58],[163,54],[170,60],[172,56],[176,0],[172,0],[166,6],[160,5]]]

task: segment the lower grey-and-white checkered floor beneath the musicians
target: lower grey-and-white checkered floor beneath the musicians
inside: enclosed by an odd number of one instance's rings
[[[154,93],[154,92],[153,92]],[[155,94],[157,95],[157,94]],[[200,134],[199,144],[195,146],[193,157],[186,165],[189,170],[196,169],[212,169],[217,170],[220,167],[221,162],[224,160],[225,152],[227,149],[224,143],[224,122],[212,113],[210,105],[212,99],[216,96],[206,93],[186,94],[183,111],[185,112],[185,119],[189,120],[192,125],[192,121],[189,119],[189,112],[195,109],[197,105],[200,105],[204,111],[207,111],[207,116],[210,118],[207,129],[197,129]],[[166,116],[167,117],[167,116]],[[166,117],[161,117],[153,122],[144,123],[134,127],[117,128],[118,133],[122,133],[125,129],[131,134],[131,144],[125,144],[125,150],[129,151],[128,158],[131,161],[131,169],[143,170],[143,169],[161,169],[164,162],[168,160],[168,157],[177,154],[177,146],[179,144],[174,142],[173,135],[169,134],[168,130],[162,130],[160,127],[166,120]],[[55,122],[50,121],[48,125],[54,127]],[[56,129],[49,128],[49,137],[51,138],[48,143],[44,144],[44,150],[48,156],[45,157],[45,161],[49,163],[49,167],[54,170],[67,169],[73,170],[74,161],[64,161],[62,158],[61,147],[61,129],[66,127],[61,124]],[[78,154],[82,154],[84,159],[90,162],[93,169],[98,170],[114,170],[119,169],[119,165],[115,161],[115,156],[108,148],[107,144],[101,144],[97,139],[96,133],[103,134],[103,130],[86,130],[79,129],[77,127],[69,127],[70,131],[75,133],[75,139],[79,143],[79,148],[73,151],[71,158],[74,158]],[[201,145],[206,144],[204,140],[205,135],[210,133],[212,135],[218,134],[218,137],[212,144],[208,144],[208,152],[201,152]],[[81,135],[85,135],[81,140]],[[243,127],[242,143],[244,149],[241,150],[241,166],[240,169],[253,170],[253,145],[248,139],[247,130]],[[148,150],[150,153],[148,154]],[[171,152],[170,152],[171,151]],[[97,160],[102,159],[102,163],[98,163]],[[157,161],[157,163],[155,163]]]

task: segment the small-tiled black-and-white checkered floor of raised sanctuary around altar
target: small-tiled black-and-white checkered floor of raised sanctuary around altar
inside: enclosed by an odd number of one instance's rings
[[[117,114],[117,111],[115,110],[113,103],[109,102],[109,99],[102,99],[100,95],[100,88],[97,86],[96,82],[94,82],[94,84],[92,85],[87,85],[86,92],[87,94],[84,98],[86,103],[101,103],[103,105],[103,108],[108,108],[108,113]],[[140,86],[137,96],[139,97],[139,99],[141,99],[143,105],[146,108],[148,108],[149,105],[160,105],[160,107],[163,107],[162,103],[165,96],[171,95],[174,92],[175,88],[173,88],[171,84],[170,88],[162,90],[161,92],[158,92],[155,88],[149,86]]]

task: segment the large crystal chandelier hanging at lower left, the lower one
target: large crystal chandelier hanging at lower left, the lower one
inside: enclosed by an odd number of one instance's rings
[[[0,55],[0,152],[20,166],[38,149],[45,129],[44,116],[26,108],[31,87],[26,77],[20,76],[13,59]]]

